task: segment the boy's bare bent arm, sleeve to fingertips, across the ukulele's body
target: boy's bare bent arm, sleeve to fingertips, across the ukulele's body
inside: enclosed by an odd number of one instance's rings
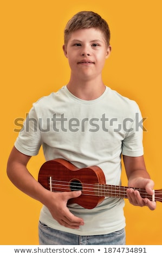
[[[15,147],[8,160],[7,174],[11,182],[28,196],[46,205],[51,215],[64,227],[77,229],[83,225],[83,220],[74,216],[67,208],[70,198],[80,196],[80,191],[50,192],[46,190],[27,169],[31,156],[20,153]]]

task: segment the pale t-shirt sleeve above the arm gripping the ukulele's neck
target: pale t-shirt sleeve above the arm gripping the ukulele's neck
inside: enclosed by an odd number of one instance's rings
[[[126,127],[125,125],[126,136],[122,141],[122,155],[135,157],[144,154],[142,120],[139,107],[135,112],[134,120],[126,120],[129,126]]]

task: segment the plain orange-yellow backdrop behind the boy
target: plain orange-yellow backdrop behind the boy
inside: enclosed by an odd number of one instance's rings
[[[25,118],[33,102],[68,82],[63,55],[63,29],[77,11],[93,10],[111,28],[111,57],[103,80],[107,86],[138,102],[143,117],[145,161],[162,188],[161,172],[161,1],[82,0],[1,1],[1,245],[37,245],[41,204],[8,180],[6,165],[18,135],[16,118]],[[28,164],[37,179],[42,150]],[[122,173],[122,185],[127,185]],[[126,199],[127,245],[162,245],[162,204],[150,211]]]

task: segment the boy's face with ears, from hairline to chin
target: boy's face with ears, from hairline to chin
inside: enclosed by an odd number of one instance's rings
[[[73,32],[63,50],[72,75],[89,80],[101,75],[111,46],[106,46],[99,29],[87,28]]]

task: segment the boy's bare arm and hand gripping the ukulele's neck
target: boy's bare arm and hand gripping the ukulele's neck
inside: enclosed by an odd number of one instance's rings
[[[143,156],[131,157],[123,156],[129,187],[144,188],[150,195],[153,194],[154,182],[150,179],[145,166]],[[141,198],[139,191],[128,188],[127,196],[129,202],[137,206],[148,206],[150,210],[154,210],[156,203],[146,198]]]

